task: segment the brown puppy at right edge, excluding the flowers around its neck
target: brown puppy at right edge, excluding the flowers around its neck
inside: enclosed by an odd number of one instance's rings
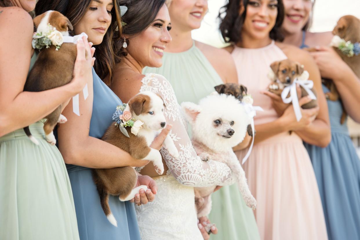
[[[341,17],[333,30],[333,35],[337,35],[345,41],[351,41],[352,43],[360,42],[360,19],[352,15],[346,15]],[[310,52],[316,51],[315,48],[309,48],[305,50]],[[336,47],[334,47],[334,50],[341,57],[341,59],[352,69],[356,76],[360,78],[360,55],[348,57]],[[326,98],[331,101],[337,101],[340,96],[334,82],[331,79],[325,78],[322,79],[322,82],[330,90],[329,92],[325,93]],[[342,106],[342,111],[343,112],[340,119],[341,124],[345,122],[347,116],[344,106]]]

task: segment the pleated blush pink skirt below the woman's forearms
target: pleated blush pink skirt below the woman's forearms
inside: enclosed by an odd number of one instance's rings
[[[237,152],[238,158],[246,153],[247,149]],[[243,168],[257,200],[261,239],[328,239],[314,170],[296,133],[256,144]]]

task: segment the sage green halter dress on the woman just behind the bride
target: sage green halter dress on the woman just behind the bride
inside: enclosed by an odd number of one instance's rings
[[[181,53],[166,53],[160,68],[145,67],[143,73],[158,73],[172,85],[177,101],[198,103],[201,98],[215,91],[222,80],[204,54],[195,46]],[[218,234],[212,240],[260,239],[252,209],[248,208],[236,185],[224,186],[212,195],[209,216],[216,223]],[[180,196],[179,196],[180,197]]]

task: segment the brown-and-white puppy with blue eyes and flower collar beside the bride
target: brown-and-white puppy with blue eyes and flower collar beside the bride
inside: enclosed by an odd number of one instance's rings
[[[128,104],[118,106],[113,115],[113,122],[104,133],[102,140],[128,152],[135,159],[153,162],[158,174],[164,172],[162,157],[150,144],[166,126],[163,114],[165,104],[160,96],[153,92],[141,92],[129,100]],[[174,157],[179,157],[174,142],[168,135],[164,147]],[[120,201],[128,201],[147,186],[135,187],[137,174],[133,167],[93,169],[93,179],[98,189],[100,203],[106,217],[112,225],[117,221],[109,207],[109,194],[119,196]]]

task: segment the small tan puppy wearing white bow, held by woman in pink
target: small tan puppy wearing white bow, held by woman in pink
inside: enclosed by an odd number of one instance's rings
[[[301,108],[309,109],[318,105],[316,92],[313,88],[314,83],[309,80],[309,73],[304,70],[303,65],[292,60],[285,59],[272,63],[270,68],[271,71],[268,77],[270,78],[271,83],[268,90],[281,96],[284,103],[292,102],[294,110],[296,110],[294,101],[298,105],[298,97],[302,98],[310,95],[312,100],[309,103],[302,105]],[[301,96],[297,96],[295,84],[300,85]],[[300,121],[300,119],[297,116],[297,120]]]

